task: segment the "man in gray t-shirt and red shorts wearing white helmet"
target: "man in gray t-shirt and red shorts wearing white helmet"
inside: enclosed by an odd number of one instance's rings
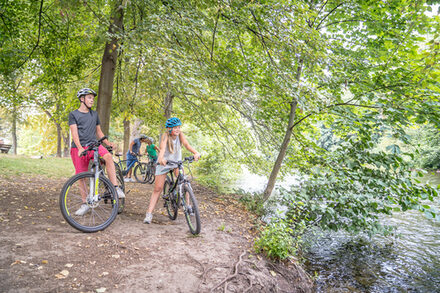
[[[93,152],[87,152],[84,156],[81,156],[81,154],[88,148],[90,143],[96,142],[97,138],[104,136],[104,133],[102,133],[101,130],[101,122],[99,120],[98,113],[92,110],[96,95],[96,92],[92,89],[80,89],[76,94],[80,101],[80,106],[77,110],[69,113],[69,127],[72,134],[70,157],[72,158],[73,166],[75,167],[75,174],[88,171],[89,161],[93,159]],[[107,139],[105,139],[103,142],[108,146],[114,147],[114,144],[109,142]],[[116,187],[119,198],[124,198],[125,194],[119,187],[116,179],[116,171],[112,155],[102,145],[99,146],[98,153],[105,161],[108,177]],[[81,188],[83,204],[75,212],[75,215],[78,216],[86,214],[90,209],[86,203],[86,183],[82,181],[81,184],[83,187]]]

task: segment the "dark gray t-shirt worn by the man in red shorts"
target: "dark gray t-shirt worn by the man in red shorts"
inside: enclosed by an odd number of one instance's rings
[[[98,113],[90,110],[88,113],[83,113],[78,110],[69,113],[69,126],[76,124],[78,127],[78,136],[81,146],[86,146],[92,142],[96,142],[96,126],[100,125]],[[72,148],[76,148],[72,140]]]

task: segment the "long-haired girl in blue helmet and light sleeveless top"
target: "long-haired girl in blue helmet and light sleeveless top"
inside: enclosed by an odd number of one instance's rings
[[[154,183],[153,194],[151,195],[150,204],[145,214],[144,223],[150,224],[153,219],[153,210],[162,192],[165,183],[166,174],[170,170],[177,170],[176,166],[167,165],[167,160],[181,161],[182,160],[182,145],[194,154],[194,159],[197,161],[200,154],[188,143],[185,135],[180,131],[182,122],[179,118],[172,117],[165,123],[167,132],[164,133],[160,139],[159,144],[159,165],[156,167],[156,181]]]

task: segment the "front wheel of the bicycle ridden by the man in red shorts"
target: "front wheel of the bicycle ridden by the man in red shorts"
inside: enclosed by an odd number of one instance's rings
[[[100,176],[95,180],[92,172],[79,173],[70,178],[61,190],[61,213],[75,229],[87,233],[101,231],[118,214],[117,198],[115,187],[106,177]]]

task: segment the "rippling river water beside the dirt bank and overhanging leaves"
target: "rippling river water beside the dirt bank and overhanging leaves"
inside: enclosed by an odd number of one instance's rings
[[[256,178],[240,186],[257,191],[261,184]],[[425,179],[440,184],[439,175]],[[440,223],[417,211],[394,213],[382,221],[396,227],[395,236],[308,235],[305,269],[317,292],[440,292]]]

